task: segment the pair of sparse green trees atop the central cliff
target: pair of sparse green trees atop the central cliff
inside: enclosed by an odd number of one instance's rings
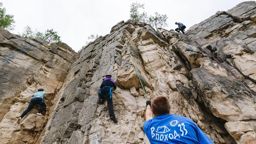
[[[159,14],[158,12],[155,12],[155,15],[150,15],[148,17],[147,12],[143,11],[142,13],[139,12],[139,8],[144,9],[144,4],[140,4],[139,2],[133,2],[130,5],[130,19],[133,20],[139,20],[141,22],[146,22],[152,27],[157,28],[159,27],[165,27],[167,25],[167,15],[166,14]]]

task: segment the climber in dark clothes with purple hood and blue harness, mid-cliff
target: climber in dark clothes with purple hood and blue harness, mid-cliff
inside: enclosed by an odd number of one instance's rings
[[[117,123],[115,114],[114,114],[114,107],[113,107],[113,101],[112,101],[112,87],[116,89],[116,84],[113,79],[111,79],[111,74],[107,73],[106,78],[102,81],[102,84],[100,86],[100,91],[98,92],[99,96],[99,104],[103,104],[103,97],[106,96],[107,102],[108,102],[108,110],[109,110],[109,117],[111,120],[113,120],[115,123]]]

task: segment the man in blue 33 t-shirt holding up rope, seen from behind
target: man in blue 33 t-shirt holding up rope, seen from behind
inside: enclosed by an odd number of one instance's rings
[[[167,97],[157,96],[146,105],[143,130],[151,144],[214,144],[191,119],[170,114]]]

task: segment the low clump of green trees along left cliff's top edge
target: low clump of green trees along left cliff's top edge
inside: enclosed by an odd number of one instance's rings
[[[21,34],[22,37],[24,38],[36,38],[36,39],[41,39],[45,40],[49,43],[55,43],[59,45],[62,41],[60,40],[60,36],[57,34],[57,32],[51,30],[46,30],[45,33],[39,32],[36,29],[36,32],[32,30],[30,26],[25,26],[24,31]]]

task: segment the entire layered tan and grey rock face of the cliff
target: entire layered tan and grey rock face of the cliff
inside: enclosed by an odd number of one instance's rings
[[[161,94],[170,100],[170,113],[191,118],[214,143],[254,144],[255,8],[256,2],[248,1],[217,12],[192,26],[187,37],[121,21],[77,54],[64,43],[50,45],[1,29],[1,61],[41,43],[0,67],[0,104],[11,100],[0,111],[0,143],[149,144],[145,103]],[[117,85],[118,123],[110,120],[107,102],[98,104],[106,73]],[[45,116],[37,116],[35,106],[16,124],[30,102],[27,96],[39,87],[55,92],[45,99]]]

